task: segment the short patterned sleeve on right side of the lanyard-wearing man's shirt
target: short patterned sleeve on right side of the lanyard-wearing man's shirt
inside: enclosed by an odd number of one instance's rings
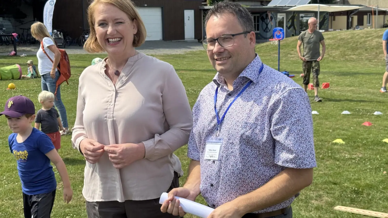
[[[275,163],[289,168],[314,168],[313,120],[310,100],[301,88],[293,88],[275,100],[271,133],[275,139]]]

